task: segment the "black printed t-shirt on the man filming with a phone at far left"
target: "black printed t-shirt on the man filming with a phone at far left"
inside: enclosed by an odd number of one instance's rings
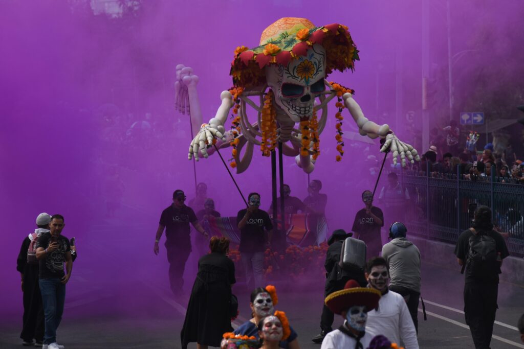
[[[71,251],[71,245],[68,238],[63,235],[58,235],[56,237],[58,242],[58,249],[52,252],[48,252],[44,258],[40,258],[39,264],[39,273],[38,277],[40,279],[50,279],[50,278],[61,278],[65,275],[64,273],[64,262],[65,262],[65,253]],[[42,249],[47,249],[49,244],[53,241],[50,233],[43,233],[38,238],[36,242],[36,248],[42,247]]]

